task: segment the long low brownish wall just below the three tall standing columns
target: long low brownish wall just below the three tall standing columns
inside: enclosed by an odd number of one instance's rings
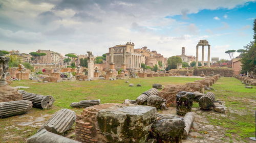
[[[208,68],[208,67],[202,67],[202,68],[195,68],[194,69],[194,75],[200,76],[200,74],[203,74],[205,76],[210,76],[212,74],[220,74],[221,76],[225,77],[232,77],[233,76],[233,69],[231,68]]]

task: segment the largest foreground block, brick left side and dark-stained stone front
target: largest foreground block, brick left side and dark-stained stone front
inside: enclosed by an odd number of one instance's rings
[[[87,107],[76,121],[76,140],[145,142],[155,120],[156,108],[150,106],[109,103]]]

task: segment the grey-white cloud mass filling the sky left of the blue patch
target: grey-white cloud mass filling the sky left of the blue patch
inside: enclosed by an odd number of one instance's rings
[[[232,9],[244,3],[230,0],[1,1],[1,17],[13,26],[4,28],[0,24],[0,45],[6,50],[27,53],[52,49],[62,54],[85,54],[91,50],[101,55],[108,52],[108,47],[131,40],[135,48],[147,46],[166,57],[180,54],[182,46],[186,47],[186,54],[195,55],[197,42],[208,38],[200,35],[200,25],[165,17],[182,15],[187,19],[187,14],[202,9]],[[42,24],[38,15],[45,12],[51,22]],[[228,28],[228,24],[223,27]]]

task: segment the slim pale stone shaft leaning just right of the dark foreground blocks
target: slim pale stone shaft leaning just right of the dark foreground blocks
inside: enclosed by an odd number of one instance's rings
[[[185,128],[183,132],[183,139],[185,139],[191,129],[191,126],[193,125],[193,122],[195,120],[195,115],[193,112],[186,113],[185,117],[183,118],[185,122]]]

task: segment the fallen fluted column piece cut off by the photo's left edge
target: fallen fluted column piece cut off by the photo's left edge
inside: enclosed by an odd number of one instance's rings
[[[0,102],[0,118],[24,114],[31,108],[32,102],[28,100]]]

